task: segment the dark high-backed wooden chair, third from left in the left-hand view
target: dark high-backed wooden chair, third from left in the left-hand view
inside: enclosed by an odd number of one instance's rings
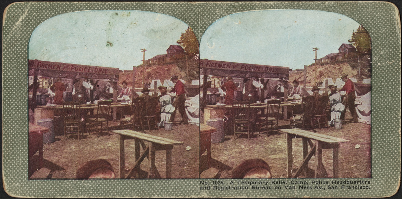
[[[127,124],[135,130],[135,127],[141,127],[144,131],[142,124],[143,109],[145,106],[145,100],[142,97],[134,98],[131,101],[131,115],[120,119],[120,128],[123,129],[127,127]]]

